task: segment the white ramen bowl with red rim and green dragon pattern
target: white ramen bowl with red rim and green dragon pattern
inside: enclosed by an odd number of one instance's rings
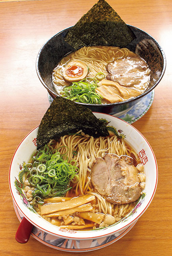
[[[156,164],[156,158],[152,151],[151,146],[144,138],[144,136],[136,130],[133,126],[127,122],[108,114],[94,113],[97,118],[106,119],[109,122],[109,126],[113,126],[116,131],[124,134],[125,140],[128,144],[137,152],[140,158],[146,176],[146,184],[143,190],[143,194],[137,201],[133,210],[119,222],[108,226],[107,228],[90,230],[90,231],[74,231],[62,229],[55,226],[42,218],[36,212],[34,212],[27,202],[25,193],[22,190],[22,171],[23,164],[29,161],[31,154],[36,149],[36,138],[38,126],[33,129],[25,138],[20,142],[16,149],[14,156],[10,164],[9,172],[9,184],[12,198],[16,207],[22,212],[22,215],[31,222],[34,226],[43,230],[46,233],[52,234],[57,237],[74,240],[88,240],[98,239],[111,235],[118,236],[119,232],[126,230],[142,216],[142,214],[149,207],[152,198],[156,191],[158,180],[158,168]]]

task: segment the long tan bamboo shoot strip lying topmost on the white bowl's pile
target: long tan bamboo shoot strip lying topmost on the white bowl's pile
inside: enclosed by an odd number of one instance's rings
[[[74,208],[74,207],[80,206],[82,204],[86,204],[92,200],[95,200],[95,196],[85,195],[85,196],[78,196],[78,197],[72,198],[65,202],[44,204],[43,206],[40,207],[41,215],[49,214],[52,212],[58,212],[60,210]]]

